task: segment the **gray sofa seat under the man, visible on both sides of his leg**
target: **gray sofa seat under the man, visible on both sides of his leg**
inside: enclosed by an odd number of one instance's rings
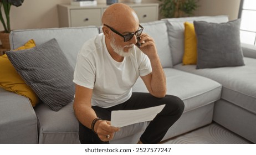
[[[38,117],[39,143],[80,143],[79,122],[75,117],[73,102],[58,112],[50,110],[45,104],[35,107]],[[147,127],[147,122],[122,127],[115,133],[114,143],[136,143]],[[134,136],[136,135],[136,136]],[[128,137],[128,138],[126,138]]]

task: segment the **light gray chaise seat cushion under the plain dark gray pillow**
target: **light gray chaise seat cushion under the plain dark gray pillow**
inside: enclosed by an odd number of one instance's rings
[[[256,114],[256,59],[244,57],[245,66],[196,69],[196,65],[174,66],[222,84],[221,98]]]

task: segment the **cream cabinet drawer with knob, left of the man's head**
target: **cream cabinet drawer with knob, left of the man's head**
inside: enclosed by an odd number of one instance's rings
[[[101,9],[71,9],[71,27],[101,25]]]

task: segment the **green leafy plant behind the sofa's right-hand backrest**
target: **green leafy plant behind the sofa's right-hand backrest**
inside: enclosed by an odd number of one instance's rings
[[[199,0],[158,0],[163,18],[191,16],[197,9]]]

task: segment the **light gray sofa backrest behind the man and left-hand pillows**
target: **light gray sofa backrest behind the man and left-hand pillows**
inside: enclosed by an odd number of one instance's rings
[[[75,68],[76,56],[81,46],[97,34],[99,34],[98,27],[27,29],[12,31],[9,39],[11,49],[16,49],[30,39],[40,45],[55,38],[70,65]]]

